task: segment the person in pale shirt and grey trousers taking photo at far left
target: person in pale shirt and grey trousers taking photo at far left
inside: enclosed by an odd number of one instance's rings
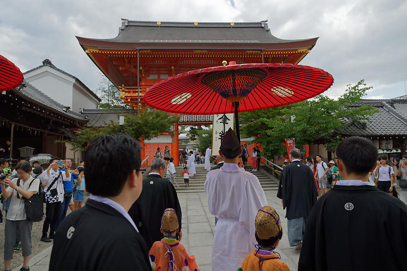
[[[28,268],[31,258],[31,229],[33,222],[27,220],[24,206],[24,198],[29,199],[38,193],[40,180],[30,175],[32,170],[30,163],[21,162],[16,166],[18,178],[0,180],[3,195],[11,198],[10,207],[6,216],[5,242],[4,242],[4,269],[10,270],[13,259],[13,248],[17,229],[20,232],[23,268]],[[18,185],[17,185],[18,184]],[[6,189],[5,185],[8,185]],[[22,270],[24,270],[21,268]]]

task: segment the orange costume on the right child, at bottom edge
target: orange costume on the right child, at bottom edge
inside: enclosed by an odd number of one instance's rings
[[[269,254],[269,255],[266,255]],[[256,250],[247,255],[238,271],[289,271],[285,262],[279,259],[278,254]]]

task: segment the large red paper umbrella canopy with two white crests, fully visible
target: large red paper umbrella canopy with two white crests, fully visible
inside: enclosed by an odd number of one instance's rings
[[[164,79],[144,96],[147,105],[173,113],[223,114],[297,103],[325,92],[333,77],[294,64],[242,64],[194,70]]]

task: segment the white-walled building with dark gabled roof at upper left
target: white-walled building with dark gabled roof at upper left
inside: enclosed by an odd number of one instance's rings
[[[56,68],[49,59],[23,75],[26,82],[73,112],[80,113],[82,108],[96,109],[101,102],[77,77]]]

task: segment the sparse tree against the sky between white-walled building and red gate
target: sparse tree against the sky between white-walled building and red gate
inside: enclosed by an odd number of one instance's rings
[[[122,92],[115,85],[103,76],[102,82],[99,83],[96,89],[96,94],[102,100],[99,104],[99,108],[114,109],[114,108],[130,108],[122,98],[120,94]]]

